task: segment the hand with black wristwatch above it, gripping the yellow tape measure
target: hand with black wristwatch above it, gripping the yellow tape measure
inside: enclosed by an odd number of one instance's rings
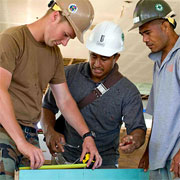
[[[89,158],[89,161],[87,163],[87,167],[89,167],[91,162],[93,160],[95,160],[92,169],[99,168],[102,164],[102,158],[101,158],[101,156],[100,156],[100,154],[96,148],[96,145],[94,143],[94,139],[91,136],[86,137],[84,139],[82,147],[83,147],[83,150],[82,150],[80,161],[83,160],[86,153],[90,153],[90,158]]]

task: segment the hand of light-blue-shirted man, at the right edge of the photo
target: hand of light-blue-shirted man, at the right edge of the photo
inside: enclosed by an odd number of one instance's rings
[[[174,178],[180,178],[180,150],[177,152],[177,154],[172,160],[170,171],[174,172]]]

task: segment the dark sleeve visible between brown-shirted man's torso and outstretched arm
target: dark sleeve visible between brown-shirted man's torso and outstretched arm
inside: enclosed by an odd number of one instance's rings
[[[58,113],[58,111],[59,111],[50,87],[43,98],[42,107],[49,109],[54,114]]]

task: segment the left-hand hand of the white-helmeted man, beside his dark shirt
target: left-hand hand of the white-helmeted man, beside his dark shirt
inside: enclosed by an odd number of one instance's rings
[[[63,144],[65,144],[64,135],[55,130],[49,131],[45,135],[46,144],[52,156],[56,156],[57,152],[64,152]]]

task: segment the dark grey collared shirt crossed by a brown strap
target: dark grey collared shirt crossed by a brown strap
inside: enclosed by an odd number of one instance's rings
[[[65,73],[69,90],[76,102],[99,85],[90,77],[89,63],[67,66]],[[105,79],[102,82],[104,81]],[[49,90],[44,98],[43,107],[57,113],[58,108],[53,99]],[[106,155],[111,150],[110,153],[116,160],[119,154],[119,132],[123,121],[128,134],[137,128],[146,130],[140,93],[126,77],[121,78],[103,96],[82,108],[81,113],[89,129],[96,133],[95,143],[100,154]],[[74,146],[82,144],[82,138],[67,123],[65,138],[67,143]],[[81,150],[65,148],[65,157],[72,161],[80,157],[80,154]]]

